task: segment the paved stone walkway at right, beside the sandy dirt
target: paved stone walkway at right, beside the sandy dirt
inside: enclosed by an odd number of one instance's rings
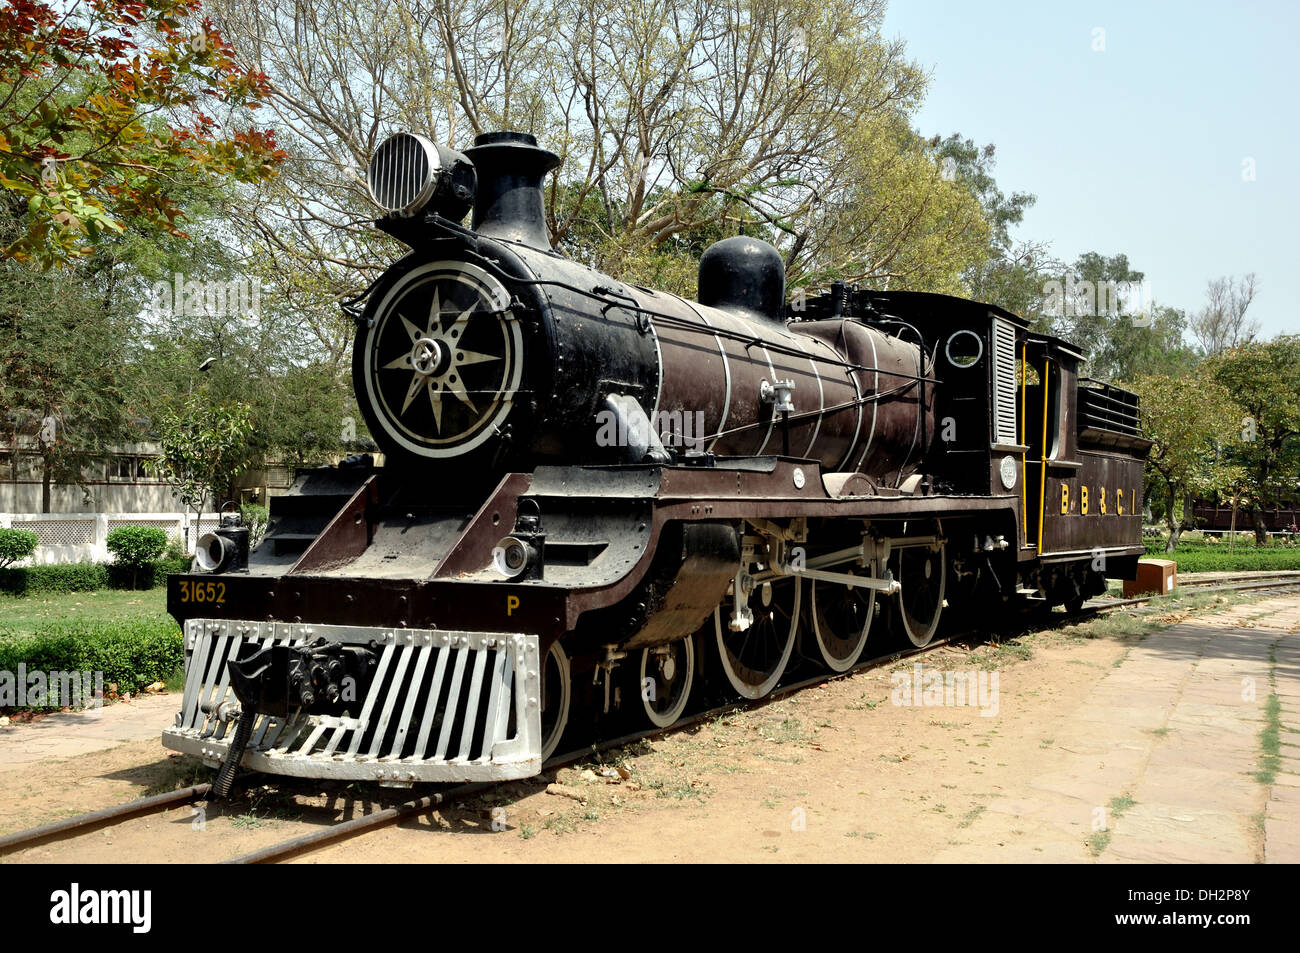
[[[1264,783],[1260,733],[1274,694],[1280,757]],[[998,859],[1069,861],[1084,840],[1100,863],[1300,862],[1300,597],[1148,636],[1052,733],[1065,757],[988,809],[1046,846]],[[978,853],[963,845],[935,859]]]

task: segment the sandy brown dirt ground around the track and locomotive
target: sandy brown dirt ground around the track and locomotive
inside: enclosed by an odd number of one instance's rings
[[[1219,597],[1217,607],[1225,605]],[[1252,627],[1258,618],[1262,625],[1271,606],[1236,605],[1226,624]],[[1196,618],[1208,614],[1201,608]],[[510,784],[298,862],[1096,862],[1105,859],[1106,839],[1089,826],[1086,803],[1076,823],[1072,815],[1044,823],[1035,779],[1079,763],[1078,748],[1057,738],[1070,737],[1089,692],[1152,632],[1190,618],[1192,610],[1110,616],[924,658],[922,675],[996,675],[993,716],[978,705],[892,703],[892,672],[909,683],[916,675],[914,660],[905,660]],[[1098,776],[1108,757],[1097,755]],[[0,832],[209,777],[152,741],[44,762],[0,774]],[[1261,785],[1261,811],[1266,796]],[[4,861],[220,861],[408,797],[265,787],[228,805],[186,806]],[[1112,806],[1123,810],[1126,797],[1117,787]],[[1251,836],[1262,841],[1262,827]],[[1261,842],[1245,846],[1262,857]]]

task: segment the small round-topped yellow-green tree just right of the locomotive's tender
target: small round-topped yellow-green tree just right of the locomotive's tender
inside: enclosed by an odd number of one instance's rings
[[[1213,381],[1148,374],[1132,382],[1141,400],[1143,436],[1153,441],[1147,456],[1147,484],[1158,488],[1169,527],[1166,551],[1173,553],[1191,520],[1190,501],[1231,485],[1238,471],[1219,447],[1239,420],[1231,394]],[[1176,504],[1183,503],[1183,520]]]

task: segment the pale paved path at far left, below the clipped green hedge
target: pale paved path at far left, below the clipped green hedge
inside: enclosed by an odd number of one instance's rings
[[[126,741],[159,738],[172,724],[179,694],[140,696],[103,709],[60,711],[0,728],[0,777],[26,764],[101,751]]]

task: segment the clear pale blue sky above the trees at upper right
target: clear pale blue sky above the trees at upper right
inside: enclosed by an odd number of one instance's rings
[[[1264,335],[1300,332],[1300,4],[892,0],[884,35],[931,72],[920,133],[994,143],[1037,195],[1018,237],[1124,252],[1188,311],[1254,272]]]

